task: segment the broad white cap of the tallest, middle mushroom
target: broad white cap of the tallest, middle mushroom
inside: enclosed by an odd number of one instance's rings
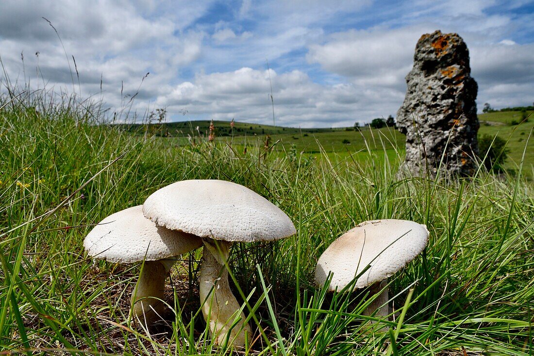
[[[224,241],[271,241],[296,233],[276,205],[227,181],[172,183],[146,199],[143,213],[169,229]]]

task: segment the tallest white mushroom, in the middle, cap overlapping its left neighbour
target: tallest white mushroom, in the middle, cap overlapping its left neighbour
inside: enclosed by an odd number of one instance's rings
[[[231,243],[291,236],[296,233],[293,222],[256,192],[219,180],[170,184],[146,199],[143,213],[158,225],[202,237],[199,281],[204,319],[215,343],[244,346],[252,330],[230,290],[225,265]]]

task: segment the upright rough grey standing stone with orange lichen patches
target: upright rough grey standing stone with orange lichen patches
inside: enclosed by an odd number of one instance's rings
[[[422,35],[406,83],[406,97],[396,119],[406,135],[402,171],[431,177],[438,169],[446,177],[471,175],[480,124],[475,103],[478,86],[470,76],[464,40],[439,30]]]

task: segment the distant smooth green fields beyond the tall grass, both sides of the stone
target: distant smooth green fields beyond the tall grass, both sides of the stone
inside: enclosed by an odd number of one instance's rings
[[[479,135],[498,135],[506,140],[508,160],[505,167],[517,170],[521,164],[523,151],[526,147],[523,172],[529,177],[534,177],[534,140],[528,140],[529,134],[534,127],[534,115],[531,111],[526,112],[527,121],[521,122],[520,111],[496,111],[478,115],[481,121]],[[513,122],[517,125],[511,125]],[[319,157],[321,152],[327,152],[331,157],[347,157],[355,154],[360,157],[361,152],[404,151],[405,136],[392,128],[370,129],[369,127],[354,130],[354,128],[319,128],[300,129],[271,125],[258,125],[252,123],[235,122],[232,131],[230,122],[215,121],[216,141],[226,142],[237,146],[236,150],[243,150],[245,145],[264,145],[265,136],[270,135],[270,144],[274,144],[277,151],[296,150],[297,152],[310,153]],[[196,127],[199,127],[199,131]],[[167,132],[173,144],[189,144],[187,135],[193,137],[195,142],[205,141],[209,121],[185,121],[167,123],[161,126],[151,125],[148,131],[152,133]],[[132,133],[142,135],[145,133],[140,125],[129,127]],[[200,135],[199,135],[200,132]],[[528,145],[525,146],[525,144]],[[334,154],[335,153],[335,154]],[[365,157],[365,154],[364,156]]]

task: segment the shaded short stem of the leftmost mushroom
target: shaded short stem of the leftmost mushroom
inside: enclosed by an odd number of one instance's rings
[[[160,319],[165,309],[165,304],[160,299],[165,296],[165,280],[171,266],[170,262],[163,264],[162,261],[145,261],[141,270],[132,292],[131,305],[132,315],[146,324]]]

